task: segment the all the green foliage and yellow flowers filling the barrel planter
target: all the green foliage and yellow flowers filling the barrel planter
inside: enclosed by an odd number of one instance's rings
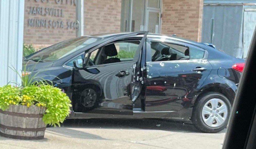
[[[4,111],[9,105],[46,107],[44,123],[60,126],[70,113],[72,105],[69,97],[61,89],[50,85],[50,81],[38,77],[38,73],[26,72],[26,65],[22,74],[19,74],[14,67],[11,68],[21,78],[21,84],[11,82],[18,87],[11,85],[0,87],[0,109]]]

